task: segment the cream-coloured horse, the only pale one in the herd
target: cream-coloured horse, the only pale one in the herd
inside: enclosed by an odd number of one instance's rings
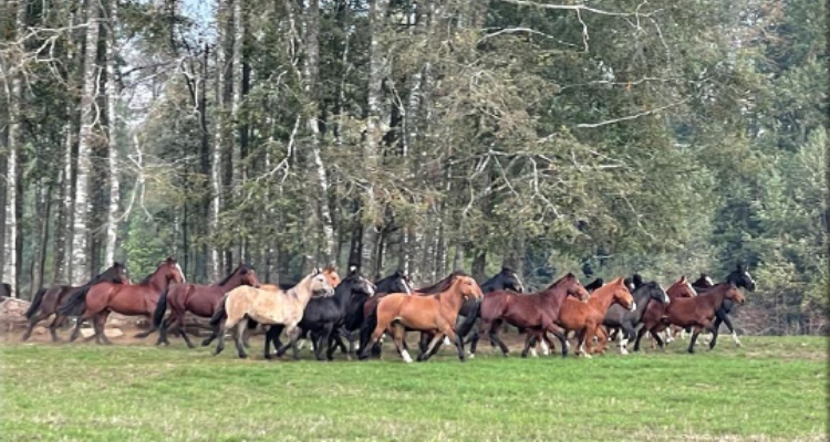
[[[247,357],[242,337],[250,318],[266,326],[284,327],[293,348],[294,359],[299,359],[297,338],[300,329],[297,325],[302,319],[305,305],[314,295],[331,296],[332,294],[334,294],[334,288],[329,283],[329,278],[317,269],[288,291],[259,290],[249,286],[234,288],[225,295],[219,306],[226,319],[214,354],[218,355],[225,349],[225,332],[236,327],[237,351],[240,358]]]

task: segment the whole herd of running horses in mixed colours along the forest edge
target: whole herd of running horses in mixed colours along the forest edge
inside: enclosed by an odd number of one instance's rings
[[[627,354],[632,340],[633,349],[640,350],[646,334],[663,348],[677,333],[689,330],[688,352],[694,352],[704,330],[712,334],[709,349],[715,347],[720,324],[740,345],[729,318],[735,303],[744,303],[740,288],[755,290],[741,264],[722,283],[706,274],[694,282],[681,276],[666,290],[639,274],[608,283],[598,278],[583,286],[569,273],[544,290],[527,293],[509,267],[480,284],[456,271],[435,284],[414,288],[401,271],[372,282],[355,267],[341,280],[330,266],[313,270],[295,284],[273,285],[262,284],[246,264],[215,284],[201,285],[188,283],[176,260],[168,257],[137,284],[116,262],[83,286],[40,290],[25,313],[29,324],[22,340],[29,339],[38,323],[54,316],[49,326],[53,341],[60,340],[59,327],[75,317],[70,340],[77,338],[82,324],[89,320],[96,343],[111,344],[104,325],[116,312],[148,319],[152,326],[136,335],[138,338],[158,332],[156,345],[167,345],[170,336],[179,336],[194,348],[188,337],[191,332],[185,327],[189,313],[209,318],[210,335],[203,346],[217,340],[218,355],[226,335],[232,335],[240,358],[247,357],[248,337],[257,327],[266,332],[267,359],[281,357],[289,348],[298,359],[301,339],[309,339],[314,356],[323,361],[333,359],[338,349],[350,358],[380,357],[386,335],[401,358],[412,362],[407,332],[421,334],[421,361],[434,356],[440,343],[454,345],[461,361],[475,357],[481,335],[507,356],[509,349],[500,336],[506,325],[525,334],[522,357],[528,351],[537,355],[539,346],[547,354],[557,344],[562,356],[568,356],[571,336],[577,354],[588,358],[605,352],[613,340],[621,354]],[[286,344],[280,340],[283,332]]]

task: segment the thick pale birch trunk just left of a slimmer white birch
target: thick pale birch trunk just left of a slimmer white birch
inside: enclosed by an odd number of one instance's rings
[[[90,275],[87,250],[87,223],[90,217],[90,155],[94,141],[93,125],[97,120],[93,106],[97,94],[97,41],[98,41],[98,2],[89,1],[86,14],[86,42],[84,55],[84,84],[81,95],[81,129],[77,145],[77,178],[72,224],[72,283],[83,285]]]

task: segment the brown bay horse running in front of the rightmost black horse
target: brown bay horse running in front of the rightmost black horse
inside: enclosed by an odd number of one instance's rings
[[[666,314],[662,320],[664,324],[694,327],[692,339],[688,343],[688,352],[695,352],[695,341],[704,328],[712,332],[713,341],[717,339],[717,328],[713,319],[715,319],[717,311],[723,307],[726,299],[744,304],[744,295],[740,293],[740,288],[733,283],[720,283],[699,296],[672,301],[666,307]]]

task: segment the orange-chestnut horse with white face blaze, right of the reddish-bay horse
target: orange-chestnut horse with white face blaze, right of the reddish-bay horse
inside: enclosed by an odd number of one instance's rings
[[[591,357],[591,354],[594,352],[593,337],[602,326],[605,313],[612,303],[621,305],[629,312],[636,309],[634,297],[629,292],[622,277],[596,288],[591,293],[588,303],[581,303],[577,299],[564,299],[562,308],[559,311],[559,319],[557,320],[557,325],[564,329],[564,333],[558,336],[562,344],[562,355],[568,354],[566,344],[568,333],[574,332],[578,341],[577,354],[587,358]],[[547,335],[541,330],[528,333],[525,350],[521,352],[522,357],[527,356],[528,348],[532,344],[531,338],[538,339],[539,337],[548,339]]]

